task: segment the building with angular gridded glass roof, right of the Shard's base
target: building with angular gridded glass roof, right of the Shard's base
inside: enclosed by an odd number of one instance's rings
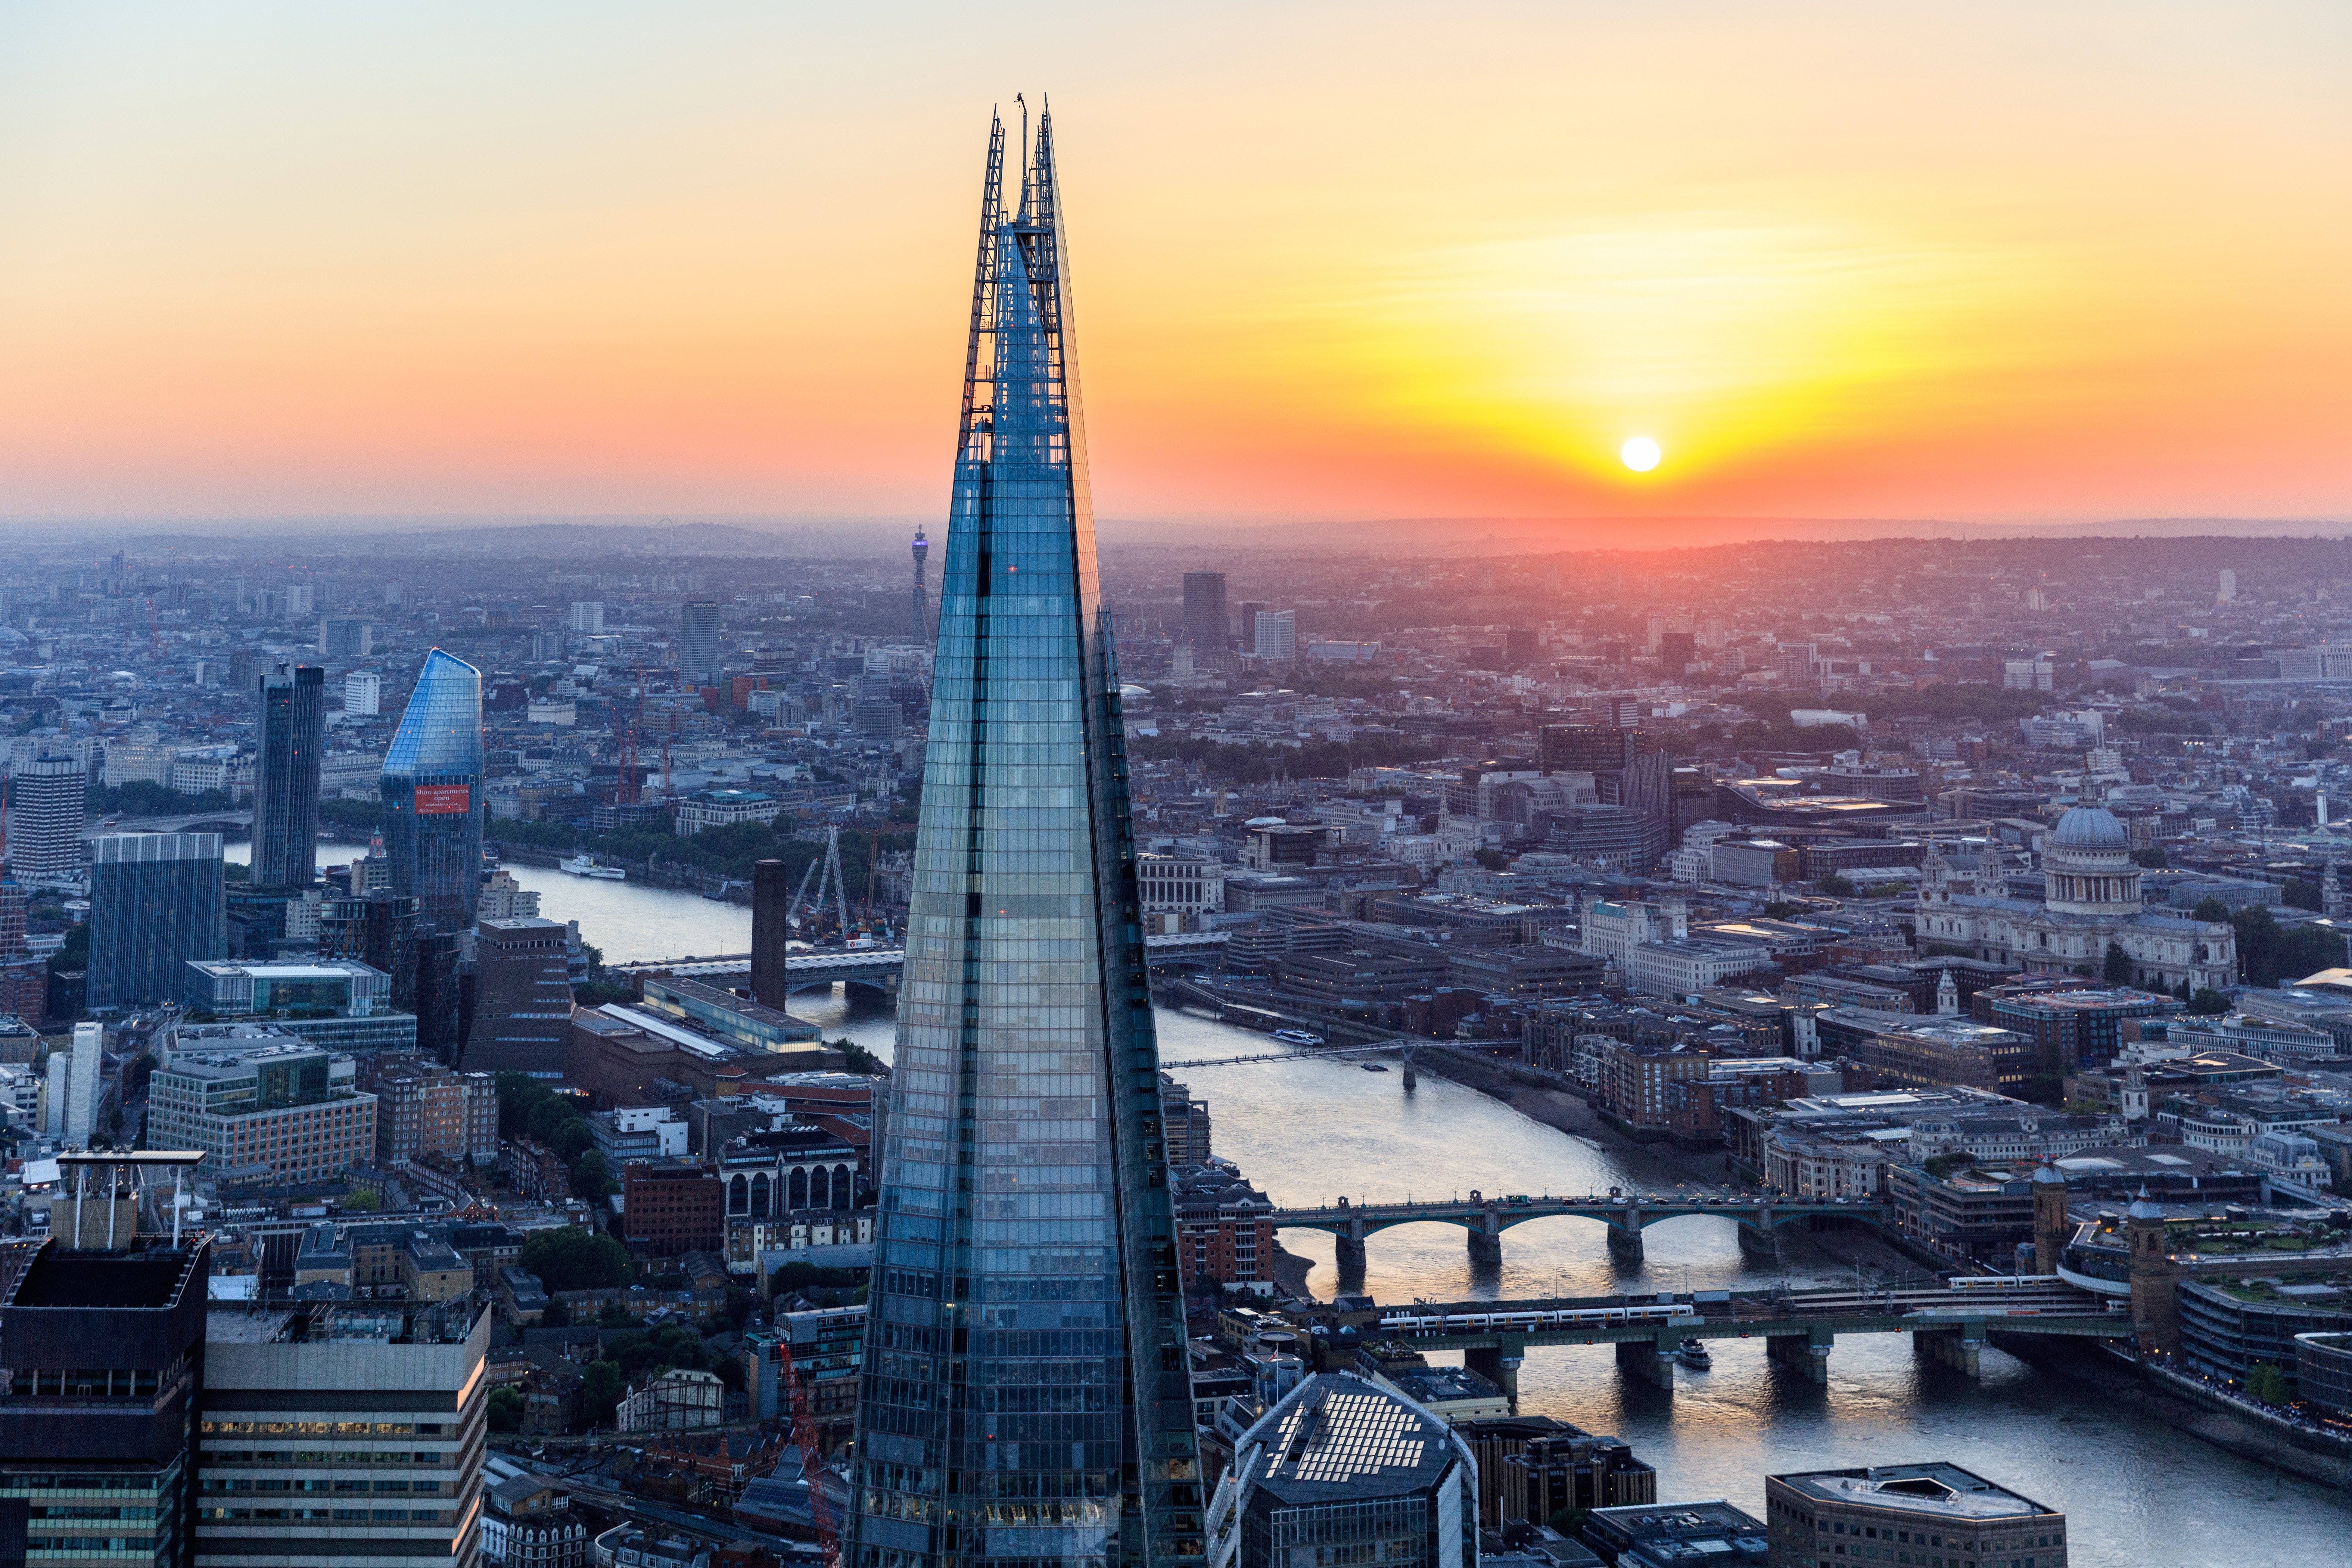
[[[1355,1373],[1317,1373],[1232,1448],[1209,1568],[1477,1568],[1477,1462],[1446,1422]]]

